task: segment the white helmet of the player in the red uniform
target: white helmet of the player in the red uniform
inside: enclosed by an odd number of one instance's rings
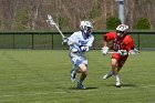
[[[126,34],[127,30],[128,30],[128,25],[120,24],[116,28],[116,34],[122,38],[124,34]]]

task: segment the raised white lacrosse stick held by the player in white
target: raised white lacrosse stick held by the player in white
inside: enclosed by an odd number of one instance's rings
[[[52,18],[50,14],[48,14],[48,20],[46,20],[46,22],[48,22],[49,24],[51,24],[51,25],[54,25],[54,27],[58,29],[58,31],[60,32],[62,39],[65,38],[65,37],[63,35],[63,33],[61,32],[61,30],[59,29],[58,24],[54,22],[53,18]]]

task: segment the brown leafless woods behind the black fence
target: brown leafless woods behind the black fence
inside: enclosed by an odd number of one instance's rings
[[[155,0],[124,0],[125,23],[135,29],[140,18],[155,27]],[[116,0],[0,0],[0,30],[54,30],[46,20],[51,14],[62,30],[79,29],[81,20],[91,20],[95,30],[105,30],[106,20],[117,16]]]

